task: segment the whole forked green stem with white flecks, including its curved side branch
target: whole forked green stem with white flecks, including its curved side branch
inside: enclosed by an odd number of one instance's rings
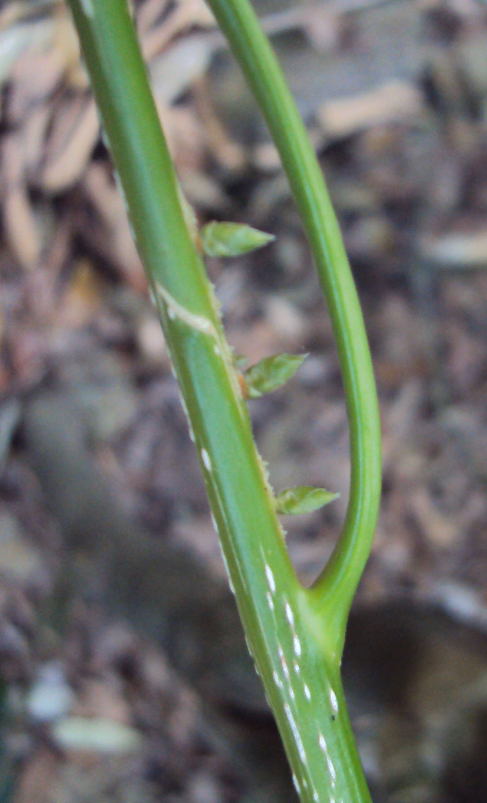
[[[347,520],[330,564],[306,590],[290,564],[213,289],[185,224],[126,2],[70,0],[70,6],[188,410],[229,579],[296,788],[303,803],[368,803],[339,661],[375,524],[379,422],[355,287],[315,154],[250,6],[243,0],[213,2],[290,176],[327,294],[347,393]]]

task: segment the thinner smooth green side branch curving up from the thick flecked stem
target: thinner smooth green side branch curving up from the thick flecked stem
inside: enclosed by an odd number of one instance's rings
[[[323,174],[281,68],[248,0],[207,0],[266,118],[308,237],[333,325],[350,426],[347,518],[313,597],[323,614],[348,610],[371,549],[381,487],[380,422],[367,335]],[[325,78],[326,80],[326,78]],[[343,648],[339,635],[336,649]]]

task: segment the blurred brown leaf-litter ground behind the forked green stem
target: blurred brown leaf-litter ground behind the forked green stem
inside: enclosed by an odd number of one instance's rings
[[[344,674],[375,801],[485,801],[487,7],[258,0],[326,173],[375,364],[379,526]],[[347,505],[347,420],[286,179],[201,0],[136,24],[201,222],[276,235],[208,260],[309,583]],[[242,642],[177,386],[66,7],[0,6],[0,795],[294,800]]]

